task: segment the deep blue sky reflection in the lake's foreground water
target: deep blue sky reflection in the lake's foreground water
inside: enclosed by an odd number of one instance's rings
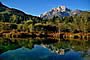
[[[9,50],[0,55],[0,60],[83,60],[79,52],[69,51],[64,55],[59,55],[44,48],[35,45],[33,49],[25,47]]]

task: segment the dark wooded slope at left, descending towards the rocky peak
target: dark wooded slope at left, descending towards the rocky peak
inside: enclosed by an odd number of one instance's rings
[[[8,8],[4,4],[0,2],[0,21],[1,22],[10,22],[10,23],[23,23],[27,20],[33,20],[34,22],[38,22],[41,18],[37,16],[32,16],[25,14],[24,12],[14,9]]]

